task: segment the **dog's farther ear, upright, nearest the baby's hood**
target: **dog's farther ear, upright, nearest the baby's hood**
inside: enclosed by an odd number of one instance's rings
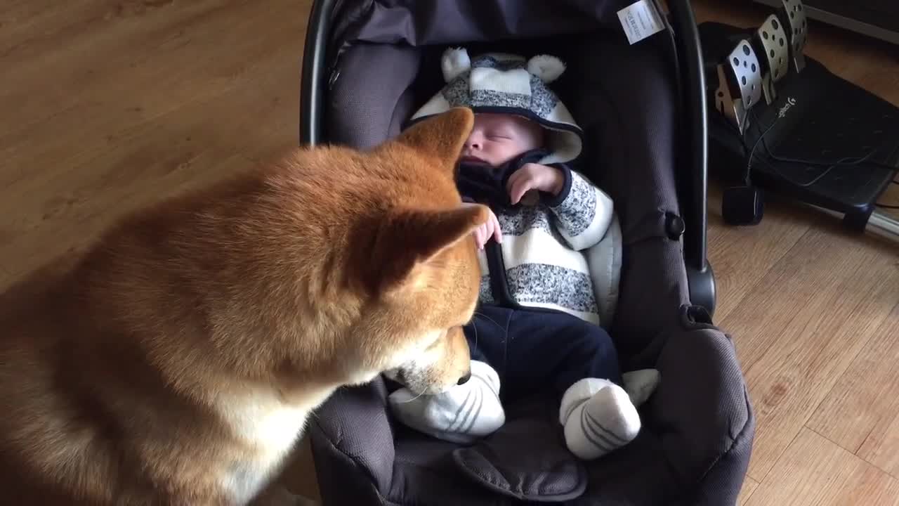
[[[395,141],[439,158],[444,165],[455,166],[462,146],[475,124],[475,114],[467,107],[453,107],[417,122],[400,133]]]

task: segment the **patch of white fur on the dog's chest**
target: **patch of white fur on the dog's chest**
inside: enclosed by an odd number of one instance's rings
[[[309,411],[319,399],[302,404],[283,402],[273,390],[256,389],[219,398],[218,411],[237,439],[250,449],[221,476],[237,503],[260,492],[280,471],[280,465],[306,425]]]

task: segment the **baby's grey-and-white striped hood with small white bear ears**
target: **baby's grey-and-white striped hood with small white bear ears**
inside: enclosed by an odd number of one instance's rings
[[[569,162],[580,156],[583,131],[547,86],[565,71],[562,60],[498,52],[469,58],[467,50],[450,48],[443,53],[441,69],[447,85],[413,114],[410,124],[457,106],[475,113],[519,114],[549,132],[549,154],[540,163]]]

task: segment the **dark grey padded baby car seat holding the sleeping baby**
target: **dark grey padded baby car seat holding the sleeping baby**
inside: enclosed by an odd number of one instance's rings
[[[734,345],[712,322],[706,260],[706,105],[688,0],[631,44],[629,0],[317,0],[303,62],[300,141],[369,148],[440,89],[440,56],[539,52],[565,61],[556,93],[585,133],[580,170],[610,194],[621,269],[608,325],[623,370],[657,368],[628,446],[592,462],[565,449],[544,393],[506,408],[472,446],[392,420],[381,378],[310,419],[325,504],[734,504],[754,418]],[[643,2],[643,5],[658,5]],[[647,11],[650,12],[651,11]],[[627,16],[624,16],[628,20]],[[644,18],[645,19],[645,18]]]

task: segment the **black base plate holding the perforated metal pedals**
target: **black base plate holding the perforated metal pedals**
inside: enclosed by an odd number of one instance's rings
[[[733,41],[747,33],[712,22],[700,24],[699,30],[703,48],[710,48],[710,53],[733,47]],[[771,127],[752,157],[753,185],[867,221],[899,173],[899,108],[807,56],[802,72],[791,71],[776,86],[778,96],[772,104],[756,104],[750,111],[754,121],[743,141],[727,118],[709,108],[710,175],[742,181],[748,149]],[[868,161],[889,167],[864,163],[829,167],[773,160],[769,155],[830,162],[870,155]]]

